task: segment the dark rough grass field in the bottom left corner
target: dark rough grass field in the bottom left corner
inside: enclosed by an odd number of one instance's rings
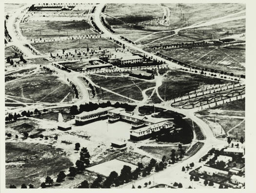
[[[46,172],[49,175],[57,174],[73,165],[61,149],[39,143],[6,142],[5,156],[5,161],[9,164],[5,166],[6,188],[10,184],[20,188],[23,183],[32,183],[35,188],[39,188],[40,178],[45,178]],[[11,164],[17,161],[24,164]]]

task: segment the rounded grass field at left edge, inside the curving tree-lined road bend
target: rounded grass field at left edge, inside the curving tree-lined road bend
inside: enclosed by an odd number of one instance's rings
[[[71,85],[44,71],[5,84],[6,95],[28,98],[36,102],[60,102],[68,93],[73,95]],[[18,100],[21,101],[22,98]],[[69,96],[70,100],[71,98],[73,97]]]

